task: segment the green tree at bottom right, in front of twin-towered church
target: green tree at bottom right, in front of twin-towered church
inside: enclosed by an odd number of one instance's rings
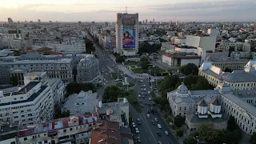
[[[198,126],[198,138],[200,141],[216,143],[218,142],[220,135],[218,130],[214,129],[214,124],[212,122],[204,122],[200,123]]]

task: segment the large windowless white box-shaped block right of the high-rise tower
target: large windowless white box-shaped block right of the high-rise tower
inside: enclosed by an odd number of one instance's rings
[[[215,36],[194,36],[187,35],[186,36],[186,46],[194,46],[194,47],[202,47],[203,50],[206,51],[215,51]]]

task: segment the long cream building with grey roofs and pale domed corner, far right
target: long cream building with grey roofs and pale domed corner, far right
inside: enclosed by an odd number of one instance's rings
[[[205,77],[213,86],[224,82],[230,86],[231,90],[256,90],[255,63],[254,60],[250,60],[243,70],[234,70],[230,73],[223,72],[220,67],[205,61],[200,66],[198,74]]]

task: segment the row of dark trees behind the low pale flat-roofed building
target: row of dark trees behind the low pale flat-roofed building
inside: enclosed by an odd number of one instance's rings
[[[66,86],[66,91],[68,94],[78,94],[81,90],[88,91],[93,90],[96,91],[96,86],[93,83],[82,83],[82,82],[70,82]]]

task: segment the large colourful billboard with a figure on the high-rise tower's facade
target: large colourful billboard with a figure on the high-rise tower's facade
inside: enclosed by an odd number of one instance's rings
[[[135,30],[134,29],[124,29],[122,38],[122,48],[135,48]]]

